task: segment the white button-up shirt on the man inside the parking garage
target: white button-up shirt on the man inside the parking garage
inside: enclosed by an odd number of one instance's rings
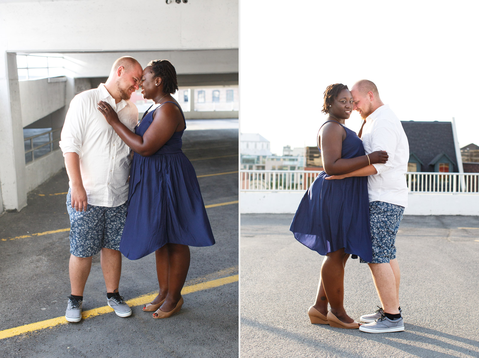
[[[80,172],[88,204],[117,207],[128,197],[131,150],[118,137],[102,113],[98,102],[109,103],[120,121],[133,131],[138,123],[138,109],[130,101],[114,98],[103,83],[98,88],[77,94],[70,103],[61,131],[60,148],[80,156]],[[71,187],[71,181],[69,182]]]

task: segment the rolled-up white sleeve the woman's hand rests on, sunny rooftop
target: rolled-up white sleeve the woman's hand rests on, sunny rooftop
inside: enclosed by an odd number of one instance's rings
[[[379,120],[376,122],[377,127],[372,131],[372,151],[384,150],[388,152],[388,161],[385,164],[373,164],[376,168],[377,173],[374,175],[379,175],[393,169],[393,160],[396,153],[396,147],[399,141],[399,134],[396,133],[396,128],[394,124],[390,123],[388,120]]]

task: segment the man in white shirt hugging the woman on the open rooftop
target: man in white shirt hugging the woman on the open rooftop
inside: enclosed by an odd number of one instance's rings
[[[334,178],[368,176],[369,221],[373,245],[369,264],[382,308],[361,316],[359,329],[368,333],[404,331],[399,306],[400,270],[396,259],[396,233],[404,208],[408,205],[405,173],[408,169],[409,143],[398,117],[383,104],[376,85],[361,80],[351,89],[354,110],[365,120],[360,135],[366,153],[388,152],[385,164],[370,164],[352,173]],[[362,132],[362,134],[361,134]]]

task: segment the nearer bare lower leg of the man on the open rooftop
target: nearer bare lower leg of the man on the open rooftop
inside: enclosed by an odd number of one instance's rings
[[[398,291],[396,289],[396,278],[391,265],[388,263],[368,265],[371,269],[374,285],[376,286],[384,312],[398,314]]]

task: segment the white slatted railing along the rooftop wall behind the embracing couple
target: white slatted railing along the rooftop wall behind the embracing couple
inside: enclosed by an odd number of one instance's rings
[[[241,191],[305,191],[320,171],[241,170]],[[411,193],[479,194],[479,173],[408,172],[406,183]]]

